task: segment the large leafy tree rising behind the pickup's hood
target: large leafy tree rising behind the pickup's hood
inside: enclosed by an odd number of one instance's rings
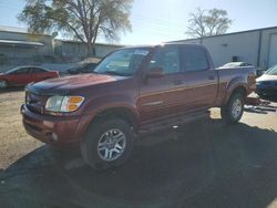
[[[98,35],[117,40],[119,32],[131,30],[133,0],[27,0],[18,19],[32,33],[59,31],[85,42],[93,54]]]

